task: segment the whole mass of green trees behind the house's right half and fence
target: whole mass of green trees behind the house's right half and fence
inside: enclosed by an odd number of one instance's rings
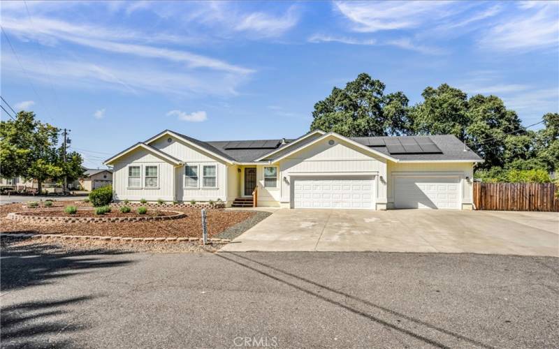
[[[468,98],[464,91],[441,84],[426,87],[423,101],[409,106],[401,91],[385,95],[384,89],[382,82],[365,73],[344,89],[334,87],[330,96],[314,105],[311,130],[348,137],[451,134],[484,158],[481,169],[559,168],[558,113],[545,114],[544,128],[530,131],[498,96]]]

